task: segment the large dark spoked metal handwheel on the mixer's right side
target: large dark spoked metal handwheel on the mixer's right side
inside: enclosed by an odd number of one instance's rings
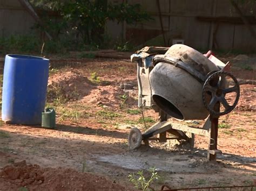
[[[225,79],[229,77],[233,82],[233,87],[225,87]],[[229,93],[236,93],[233,104],[230,105],[225,96]],[[206,100],[206,95],[211,95],[211,100]],[[237,79],[226,71],[218,71],[207,77],[203,86],[203,102],[205,107],[212,115],[221,116],[231,112],[238,103],[240,88]],[[224,111],[216,111],[215,105],[221,103],[225,108]]]

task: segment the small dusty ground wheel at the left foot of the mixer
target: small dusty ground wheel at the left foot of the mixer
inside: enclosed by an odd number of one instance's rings
[[[139,148],[142,144],[142,132],[138,128],[132,128],[128,136],[129,150]]]

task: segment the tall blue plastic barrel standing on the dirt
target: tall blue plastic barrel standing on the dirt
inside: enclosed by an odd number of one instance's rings
[[[6,55],[2,120],[12,124],[41,124],[48,76],[48,59],[28,55]]]

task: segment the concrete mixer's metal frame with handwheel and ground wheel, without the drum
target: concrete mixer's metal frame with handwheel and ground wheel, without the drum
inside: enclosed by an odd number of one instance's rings
[[[209,58],[211,55],[211,52],[208,52],[205,56]],[[156,112],[159,113],[159,121],[152,125],[149,129],[147,129],[144,133],[141,133],[139,129],[132,128],[129,133],[129,149],[134,150],[138,148],[142,141],[145,145],[149,145],[149,140],[155,140],[157,142],[167,142],[168,139],[177,139],[179,142],[181,140],[186,140],[191,147],[194,147],[194,135],[201,135],[206,136],[209,138],[208,140],[208,150],[207,150],[207,158],[210,161],[216,160],[217,154],[221,154],[222,152],[218,150],[218,123],[219,123],[219,117],[220,115],[225,115],[228,112],[231,112],[235,105],[237,105],[237,102],[239,100],[240,96],[240,89],[239,84],[237,82],[237,79],[230,74],[229,72],[225,71],[226,68],[230,68],[230,64],[227,63],[223,69],[219,71],[213,71],[211,74],[208,74],[207,76],[202,76],[198,72],[194,71],[193,68],[187,67],[186,64],[184,64],[181,61],[168,59],[163,60],[166,58],[162,58],[160,56],[156,56],[156,58],[153,58],[152,56],[152,64],[156,65],[157,62],[165,61],[170,62],[171,64],[175,64],[176,66],[186,70],[186,72],[190,73],[194,77],[196,77],[199,81],[204,83],[203,86],[203,100],[205,107],[210,111],[210,115],[206,119],[203,126],[199,127],[198,125],[184,125],[181,123],[176,123],[170,120],[171,116],[167,115],[163,110],[160,110],[160,108],[157,107],[153,103],[152,97],[151,97],[151,87],[149,82],[149,73],[151,72],[153,66],[149,66],[149,64],[145,63],[146,61],[149,62],[149,60],[143,60],[138,59],[138,84],[139,84],[139,107],[151,107]],[[132,57],[131,57],[132,58]],[[213,56],[213,59],[219,61],[217,58]],[[214,60],[214,61],[215,61]],[[173,63],[172,63],[173,62]],[[220,61],[219,61],[220,62]],[[233,80],[233,83],[235,86],[233,89],[231,88],[220,88],[220,83],[223,81],[223,77],[231,77]],[[214,82],[214,87],[210,87],[211,92],[209,91],[209,82]],[[211,83],[212,84],[212,83]],[[213,85],[211,85],[213,86]],[[217,95],[217,91],[221,91],[220,95]],[[226,92],[225,92],[226,91]],[[227,108],[225,107],[225,95],[226,93],[231,92],[237,93],[237,97],[235,98],[235,101],[233,105],[228,105]],[[205,94],[211,93],[212,100],[207,102],[205,100]],[[213,103],[214,102],[214,103]],[[153,103],[153,104],[152,104]],[[213,104],[212,104],[213,103]],[[225,107],[225,111],[220,111],[220,103],[222,103]],[[170,133],[174,137],[168,137],[167,133]],[[189,133],[189,135],[188,135]],[[156,137],[157,135],[157,137]]]

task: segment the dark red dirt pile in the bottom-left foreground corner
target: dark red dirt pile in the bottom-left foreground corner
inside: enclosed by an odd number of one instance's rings
[[[72,169],[41,168],[15,162],[0,171],[0,190],[127,190],[106,178]]]

